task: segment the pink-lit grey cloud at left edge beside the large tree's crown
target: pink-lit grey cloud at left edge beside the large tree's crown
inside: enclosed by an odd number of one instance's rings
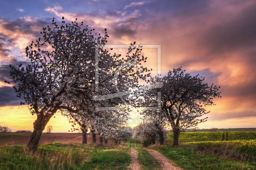
[[[30,60],[25,55],[25,47],[41,36],[45,25],[44,18],[22,17],[12,21],[0,17],[0,87],[14,85],[4,83],[10,78],[9,64],[14,67],[20,63],[28,65]]]

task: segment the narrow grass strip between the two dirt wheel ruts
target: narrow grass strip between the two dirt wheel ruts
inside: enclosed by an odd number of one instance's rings
[[[129,146],[138,151],[138,161],[142,170],[160,170],[160,163],[145,149],[142,144],[130,141]]]

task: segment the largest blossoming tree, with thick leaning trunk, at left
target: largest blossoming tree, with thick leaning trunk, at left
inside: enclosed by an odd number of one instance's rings
[[[106,29],[104,37],[99,34],[98,38],[94,38],[94,29],[89,30],[87,26],[82,29],[83,22],[80,25],[76,21],[64,25],[64,17],[62,19],[60,26],[53,18],[54,27],[43,28],[43,43],[39,38],[26,47],[31,64],[25,68],[20,64],[18,69],[10,65],[12,82],[18,83],[18,87],[13,88],[17,97],[25,100],[20,104],[28,104],[30,113],[37,116],[27,150],[37,149],[45,126],[58,110],[61,113],[68,111],[97,116],[97,101],[93,100],[93,96],[116,92],[116,85],[120,92],[138,87],[138,78],[145,79],[148,76],[141,74],[147,72],[147,68],[135,67],[146,62],[146,58],[140,58],[140,49],[134,47],[135,42],[128,48],[126,59],[119,58],[121,55],[117,54],[110,56],[108,50],[103,50],[108,37]],[[47,47],[42,49],[45,44]],[[95,46],[99,47],[98,61],[95,61]],[[50,49],[53,49],[52,52]],[[136,52],[132,53],[134,49]],[[95,63],[100,68],[100,83],[95,80]],[[127,64],[122,67],[118,75],[120,81],[116,83],[113,76],[124,63]],[[99,92],[94,90],[96,84],[99,85]],[[114,99],[111,102],[116,104],[122,100]]]

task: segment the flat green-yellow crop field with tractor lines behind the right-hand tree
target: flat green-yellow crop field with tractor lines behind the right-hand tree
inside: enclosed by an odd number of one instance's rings
[[[224,134],[224,136],[223,136]],[[228,137],[227,137],[228,134]],[[168,140],[173,141],[173,133],[168,134]],[[251,140],[256,139],[256,131],[233,131],[233,132],[181,132],[179,141],[203,142],[203,141],[222,141],[222,140]]]

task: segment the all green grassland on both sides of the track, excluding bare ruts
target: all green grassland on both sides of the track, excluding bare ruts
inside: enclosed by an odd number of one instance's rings
[[[70,134],[70,137],[73,135],[78,134]],[[3,144],[0,146],[0,170],[124,170],[132,162],[131,149],[138,152],[141,170],[161,169],[147,149],[161,152],[185,170],[256,169],[254,131],[182,132],[179,142],[179,146],[172,146],[172,133],[169,133],[167,144],[149,147],[135,140],[103,146],[53,141],[39,144],[36,152],[25,152],[25,144]]]

